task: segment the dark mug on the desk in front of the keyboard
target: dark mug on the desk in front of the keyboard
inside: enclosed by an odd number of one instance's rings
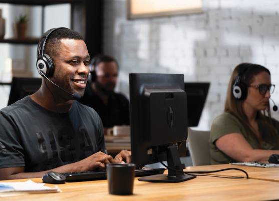
[[[107,164],[110,194],[133,194],[135,167],[133,163]]]

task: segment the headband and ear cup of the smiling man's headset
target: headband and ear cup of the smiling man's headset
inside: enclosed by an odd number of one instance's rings
[[[37,70],[39,72],[39,74],[41,76],[43,76],[42,74],[44,74],[46,77],[52,77],[53,73],[54,73],[54,63],[52,58],[47,55],[44,54],[44,49],[45,49],[45,45],[46,42],[48,40],[48,37],[56,30],[58,29],[68,29],[66,27],[59,27],[59,28],[54,28],[54,29],[50,29],[49,31],[47,31],[45,34],[43,34],[42,36],[42,40],[38,46],[37,49]],[[43,76],[44,77],[44,76]]]

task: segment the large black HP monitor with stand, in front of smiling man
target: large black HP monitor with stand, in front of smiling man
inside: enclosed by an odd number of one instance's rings
[[[180,182],[194,178],[181,172],[185,165],[178,154],[179,144],[187,139],[184,76],[132,73],[129,80],[132,162],[142,167],[166,157],[171,167],[168,176],[152,175],[139,180]]]

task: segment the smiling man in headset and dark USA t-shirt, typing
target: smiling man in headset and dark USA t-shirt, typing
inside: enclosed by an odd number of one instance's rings
[[[37,52],[41,88],[0,111],[0,180],[78,172],[130,162],[130,152],[105,154],[99,115],[80,104],[90,56],[79,33],[47,31]]]

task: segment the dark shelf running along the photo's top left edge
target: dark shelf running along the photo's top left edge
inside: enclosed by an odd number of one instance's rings
[[[32,6],[47,6],[54,4],[72,4],[81,3],[85,0],[0,0],[0,3],[17,4],[17,5],[32,5]]]

